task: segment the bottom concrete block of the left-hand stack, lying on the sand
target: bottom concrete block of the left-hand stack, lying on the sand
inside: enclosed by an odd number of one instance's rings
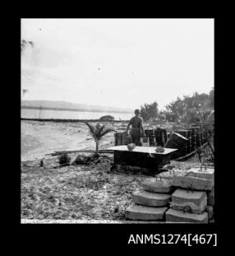
[[[137,206],[134,203],[126,208],[126,219],[144,220],[144,221],[162,221],[165,219],[167,207],[147,207]]]

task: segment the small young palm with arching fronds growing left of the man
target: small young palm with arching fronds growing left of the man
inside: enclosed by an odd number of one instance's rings
[[[88,125],[89,128],[89,134],[92,136],[93,140],[96,142],[96,153],[95,156],[98,156],[98,146],[99,142],[101,141],[101,138],[105,136],[107,133],[110,133],[112,131],[115,131],[113,128],[106,128],[105,125],[101,125],[100,123],[96,123],[96,125],[92,125],[88,122],[83,122]],[[89,139],[92,139],[89,138]]]

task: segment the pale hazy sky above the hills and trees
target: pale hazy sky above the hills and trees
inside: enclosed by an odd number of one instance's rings
[[[213,19],[22,19],[22,100],[160,109],[213,87]]]

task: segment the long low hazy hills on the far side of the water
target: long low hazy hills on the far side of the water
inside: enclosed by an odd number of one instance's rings
[[[57,111],[75,111],[75,112],[104,112],[104,113],[119,113],[119,114],[133,114],[131,111],[119,111],[119,110],[86,110],[78,108],[66,108],[66,107],[32,107],[32,106],[21,106],[22,109],[27,110],[57,110]]]

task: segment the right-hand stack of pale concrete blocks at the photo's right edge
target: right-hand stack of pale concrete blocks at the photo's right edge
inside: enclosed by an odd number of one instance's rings
[[[194,167],[187,171],[162,173],[173,187],[167,222],[208,223],[213,217],[214,169]]]

